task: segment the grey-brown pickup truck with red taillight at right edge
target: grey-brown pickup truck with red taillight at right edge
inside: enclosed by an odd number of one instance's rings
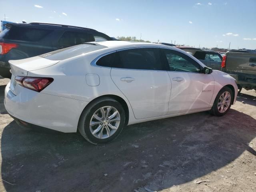
[[[236,79],[239,92],[242,88],[256,90],[256,51],[230,50],[223,56],[221,67]]]

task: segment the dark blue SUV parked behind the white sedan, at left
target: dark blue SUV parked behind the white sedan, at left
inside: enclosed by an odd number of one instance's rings
[[[33,57],[83,42],[112,40],[106,34],[84,27],[37,22],[6,26],[0,33],[0,75],[5,78],[11,76],[8,60]]]

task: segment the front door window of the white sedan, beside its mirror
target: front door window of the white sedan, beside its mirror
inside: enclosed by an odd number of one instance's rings
[[[167,62],[170,67],[170,71],[182,71],[182,72],[200,72],[200,65],[185,54],[174,51],[163,49],[164,55],[166,56]]]

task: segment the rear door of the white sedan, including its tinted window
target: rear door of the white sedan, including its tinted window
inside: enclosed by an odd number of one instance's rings
[[[137,119],[166,115],[171,83],[159,48],[116,52],[110,75],[129,100]]]

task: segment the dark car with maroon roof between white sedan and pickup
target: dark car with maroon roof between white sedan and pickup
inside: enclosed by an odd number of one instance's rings
[[[214,70],[221,70],[222,56],[219,53],[215,51],[201,50],[193,47],[177,46],[177,48],[180,48],[193,55],[206,66]]]

